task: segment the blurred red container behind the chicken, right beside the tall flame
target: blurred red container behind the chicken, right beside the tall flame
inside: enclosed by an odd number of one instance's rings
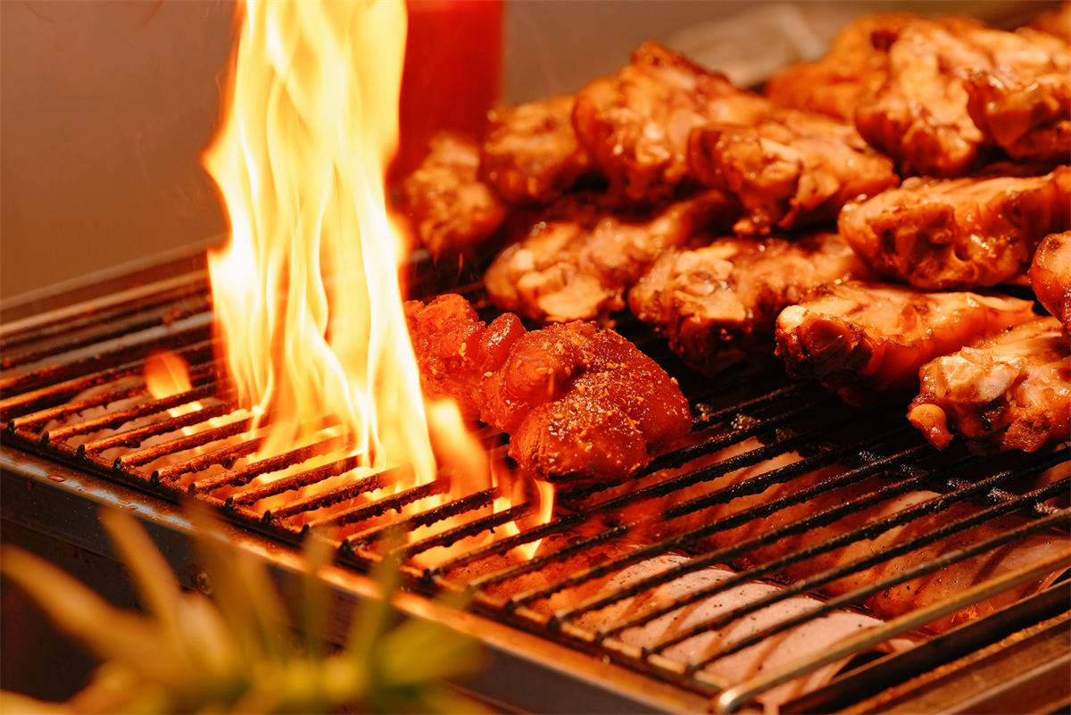
[[[479,138],[502,83],[502,0],[407,0],[401,144],[392,179],[412,171],[440,130]]]

